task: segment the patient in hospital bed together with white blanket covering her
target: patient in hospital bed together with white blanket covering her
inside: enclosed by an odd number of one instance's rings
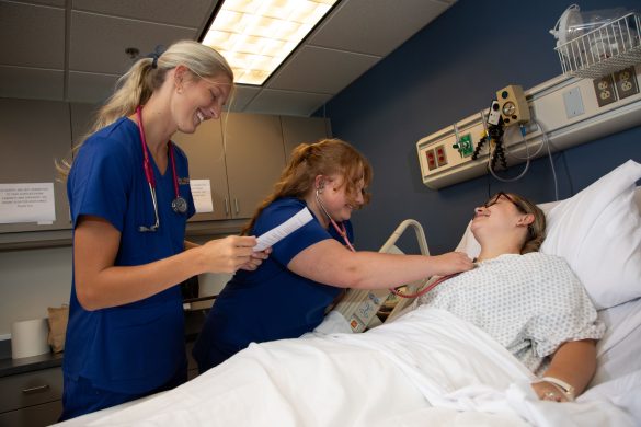
[[[545,227],[530,205],[499,195],[478,208],[479,267],[396,321],[252,344],[92,425],[633,425],[607,401],[557,404],[590,381],[604,326],[565,263],[536,252]],[[537,382],[542,370],[553,379]]]

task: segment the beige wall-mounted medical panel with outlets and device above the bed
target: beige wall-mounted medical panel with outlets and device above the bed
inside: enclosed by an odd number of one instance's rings
[[[560,76],[528,91],[499,90],[489,108],[416,142],[423,183],[438,189],[488,173],[496,153],[488,134],[499,120],[507,168],[547,155],[546,140],[554,152],[639,126],[639,82],[641,65],[595,80]]]

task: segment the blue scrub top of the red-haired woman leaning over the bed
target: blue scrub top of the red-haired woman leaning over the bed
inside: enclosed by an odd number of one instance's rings
[[[261,235],[307,207],[297,198],[267,206],[252,230]],[[350,221],[345,221],[352,241]],[[207,370],[250,343],[298,337],[318,326],[341,288],[319,284],[287,269],[299,252],[327,239],[342,238],[313,218],[273,246],[270,257],[254,272],[239,270],[220,292],[194,345],[201,371]]]

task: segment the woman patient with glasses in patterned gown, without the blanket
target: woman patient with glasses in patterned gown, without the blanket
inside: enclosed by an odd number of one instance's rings
[[[481,244],[478,268],[450,278],[415,305],[472,323],[529,370],[543,373],[533,384],[540,399],[574,400],[594,374],[594,339],[605,326],[565,261],[537,252],[545,214],[518,195],[499,193],[476,208],[471,231]]]

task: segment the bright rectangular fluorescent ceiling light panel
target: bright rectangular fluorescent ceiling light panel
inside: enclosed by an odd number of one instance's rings
[[[203,44],[228,60],[237,83],[262,85],[337,0],[226,0]]]

